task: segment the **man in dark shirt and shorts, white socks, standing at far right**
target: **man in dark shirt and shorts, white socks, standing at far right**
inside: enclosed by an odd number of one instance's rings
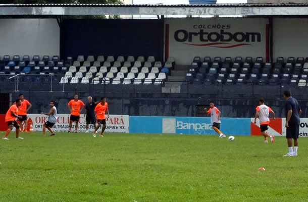
[[[286,99],[285,112],[286,112],[286,129],[287,129],[287,141],[289,147],[289,153],[284,157],[297,156],[298,136],[299,136],[299,123],[301,109],[298,101],[291,96],[289,90],[283,92],[283,98]],[[294,150],[292,149],[292,139],[294,140]]]

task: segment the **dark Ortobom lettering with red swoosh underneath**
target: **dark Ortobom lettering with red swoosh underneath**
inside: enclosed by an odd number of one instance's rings
[[[231,48],[244,45],[251,45],[247,42],[261,42],[261,33],[259,32],[226,32],[221,29],[219,32],[210,32],[203,29],[199,29],[195,32],[188,32],[184,29],[179,29],[174,32],[174,39],[178,42],[183,42],[187,45],[193,46],[211,46],[219,48]],[[198,40],[200,42],[210,43],[191,43]],[[240,42],[237,44],[230,43]],[[245,43],[243,43],[245,42]]]

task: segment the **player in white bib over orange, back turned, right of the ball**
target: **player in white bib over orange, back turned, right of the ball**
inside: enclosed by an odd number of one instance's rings
[[[256,119],[259,118],[260,120],[260,129],[261,129],[261,133],[264,136],[264,142],[268,143],[268,137],[271,138],[272,143],[274,143],[274,135],[270,135],[267,131],[268,126],[270,124],[270,118],[269,115],[270,113],[273,114],[273,120],[275,120],[275,113],[274,111],[264,105],[264,99],[260,99],[259,100],[259,106],[255,108],[255,115],[254,115],[254,124],[256,124]]]

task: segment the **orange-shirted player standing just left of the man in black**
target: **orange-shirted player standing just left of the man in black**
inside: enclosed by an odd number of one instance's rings
[[[69,131],[68,132],[72,132],[72,124],[73,124],[73,122],[75,122],[75,132],[77,132],[78,122],[79,122],[79,118],[80,118],[80,112],[84,108],[84,103],[80,99],[78,99],[78,95],[75,94],[74,95],[74,99],[72,99],[69,102],[68,107],[69,107],[69,109],[71,111],[70,126],[69,126]]]

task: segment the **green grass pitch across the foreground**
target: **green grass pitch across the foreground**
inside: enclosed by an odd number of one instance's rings
[[[14,135],[0,141],[0,201],[308,200],[308,138],[283,158],[282,137]]]

